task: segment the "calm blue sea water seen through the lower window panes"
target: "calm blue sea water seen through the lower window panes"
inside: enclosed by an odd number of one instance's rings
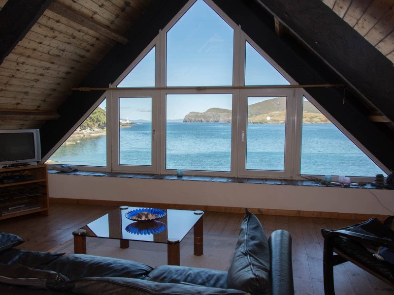
[[[168,122],[166,169],[230,171],[231,125]],[[106,137],[64,145],[56,164],[105,166]],[[249,124],[246,169],[284,170],[285,125]],[[120,129],[120,163],[151,165],[151,123]],[[304,124],[301,174],[375,176],[383,173],[332,124]],[[384,174],[384,173],[383,173]],[[385,175],[385,174],[384,174]]]

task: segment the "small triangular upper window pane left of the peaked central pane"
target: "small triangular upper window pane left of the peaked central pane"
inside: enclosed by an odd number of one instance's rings
[[[117,87],[155,87],[155,47],[134,66]]]

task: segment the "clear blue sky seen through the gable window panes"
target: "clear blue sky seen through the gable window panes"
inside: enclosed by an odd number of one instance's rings
[[[203,0],[168,30],[167,87],[231,86],[234,30]],[[118,87],[154,87],[153,47]],[[249,43],[246,43],[246,85],[289,85]],[[260,100],[261,101],[261,100]],[[151,120],[150,98],[121,99],[120,118]],[[183,119],[189,112],[231,109],[230,94],[167,95],[167,119]],[[150,110],[150,111],[149,111]]]

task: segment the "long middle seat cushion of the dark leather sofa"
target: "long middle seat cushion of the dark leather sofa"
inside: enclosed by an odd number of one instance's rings
[[[70,280],[85,277],[145,278],[153,270],[138,262],[86,254],[69,254],[49,263],[44,269],[63,273]]]

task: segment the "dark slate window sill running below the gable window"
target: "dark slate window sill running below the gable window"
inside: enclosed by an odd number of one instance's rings
[[[370,183],[360,185],[326,185],[313,180],[289,180],[289,179],[261,179],[261,178],[236,178],[236,177],[209,177],[209,176],[188,176],[177,177],[176,175],[155,175],[155,174],[132,174],[132,173],[107,173],[94,171],[73,171],[61,172],[48,169],[49,174],[60,175],[82,175],[95,177],[118,177],[118,178],[138,178],[138,179],[164,179],[164,180],[191,180],[191,181],[210,181],[210,182],[233,182],[233,183],[254,183],[272,185],[296,185],[296,186],[321,186],[321,187],[343,187],[343,188],[367,188],[367,189],[394,189],[393,187],[377,187]]]

